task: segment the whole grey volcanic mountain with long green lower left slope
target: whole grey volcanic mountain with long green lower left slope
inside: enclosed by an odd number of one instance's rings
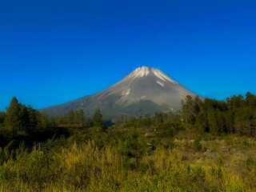
[[[59,115],[82,109],[87,117],[91,117],[94,110],[100,109],[104,118],[113,119],[122,115],[134,116],[178,110],[186,95],[195,97],[196,94],[162,71],[142,66],[106,90],[43,110],[46,110],[48,115]]]

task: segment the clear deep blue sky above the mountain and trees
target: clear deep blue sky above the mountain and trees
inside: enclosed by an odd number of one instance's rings
[[[138,66],[203,97],[256,94],[256,1],[0,2],[0,110],[94,94]]]

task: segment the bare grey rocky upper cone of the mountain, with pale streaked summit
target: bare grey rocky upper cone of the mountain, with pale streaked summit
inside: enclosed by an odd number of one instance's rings
[[[158,105],[167,103],[179,106],[181,100],[188,94],[195,96],[190,90],[163,74],[161,70],[142,66],[114,86],[94,94],[93,97],[102,99],[110,95],[118,95],[119,104],[150,100]]]

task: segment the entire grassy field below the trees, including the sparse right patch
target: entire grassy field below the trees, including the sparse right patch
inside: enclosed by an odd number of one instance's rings
[[[0,150],[1,191],[255,191],[256,140],[159,127],[75,130]],[[150,142],[152,146],[147,146]]]

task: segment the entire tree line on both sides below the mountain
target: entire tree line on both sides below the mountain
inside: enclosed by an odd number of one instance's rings
[[[70,110],[67,115],[48,117],[46,111],[39,112],[32,106],[25,106],[13,98],[6,112],[0,111],[0,134],[34,135],[56,127],[99,127],[104,128],[102,113],[95,110],[93,118],[86,118],[83,110]],[[240,134],[254,137],[256,134],[256,96],[248,92],[243,98],[241,94],[226,98],[226,101],[198,96],[186,96],[182,101],[181,113],[155,113],[127,118],[122,116],[116,127],[152,127],[174,133],[193,127],[198,133]],[[168,134],[168,135],[170,135]],[[1,135],[0,135],[1,137]],[[10,136],[9,136],[10,137]]]

